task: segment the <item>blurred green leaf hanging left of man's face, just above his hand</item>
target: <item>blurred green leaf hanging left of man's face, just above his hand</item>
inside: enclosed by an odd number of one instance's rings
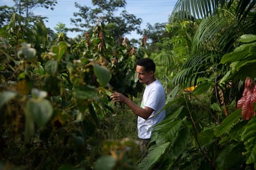
[[[101,86],[105,87],[111,79],[111,74],[106,67],[100,66],[97,63],[93,63],[93,71],[98,78],[98,82]]]

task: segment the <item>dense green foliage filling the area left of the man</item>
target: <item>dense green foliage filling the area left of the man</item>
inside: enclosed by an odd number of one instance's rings
[[[140,55],[116,44],[104,25],[79,41],[59,34],[49,43],[43,22],[21,20],[14,14],[0,30],[1,161],[28,169],[93,168],[102,142],[113,139],[107,132],[119,121],[114,112],[123,112],[109,103],[109,93],[142,91],[134,81]]]

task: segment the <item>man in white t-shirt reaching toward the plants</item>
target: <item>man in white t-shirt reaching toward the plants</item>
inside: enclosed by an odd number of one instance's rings
[[[150,142],[152,126],[160,123],[165,117],[165,110],[157,114],[165,105],[165,92],[162,84],[155,78],[155,63],[150,58],[137,61],[136,72],[140,83],[145,84],[140,107],[125,95],[114,92],[111,99],[123,102],[138,115],[137,128],[142,156],[147,155],[147,145]]]

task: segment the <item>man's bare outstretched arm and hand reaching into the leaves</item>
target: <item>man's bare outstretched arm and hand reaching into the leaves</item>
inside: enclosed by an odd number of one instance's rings
[[[124,96],[123,94],[119,92],[114,92],[111,94],[111,99],[114,102],[123,102],[126,103],[126,105],[138,116],[142,117],[143,119],[148,119],[149,116],[153,113],[153,109],[149,107],[141,108],[138,105],[136,105],[132,100],[130,100],[128,97]]]

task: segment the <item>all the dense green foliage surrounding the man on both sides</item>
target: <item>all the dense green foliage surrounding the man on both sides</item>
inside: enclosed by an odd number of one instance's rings
[[[93,2],[87,12],[126,4]],[[0,168],[255,169],[256,118],[243,119],[237,100],[245,78],[256,78],[256,1],[197,2],[177,1],[170,23],[148,25],[139,49],[103,19],[75,39],[61,24],[53,34],[41,20],[1,20]],[[136,116],[109,99],[119,91],[140,102],[142,57],[155,60],[167,94],[143,159]]]

